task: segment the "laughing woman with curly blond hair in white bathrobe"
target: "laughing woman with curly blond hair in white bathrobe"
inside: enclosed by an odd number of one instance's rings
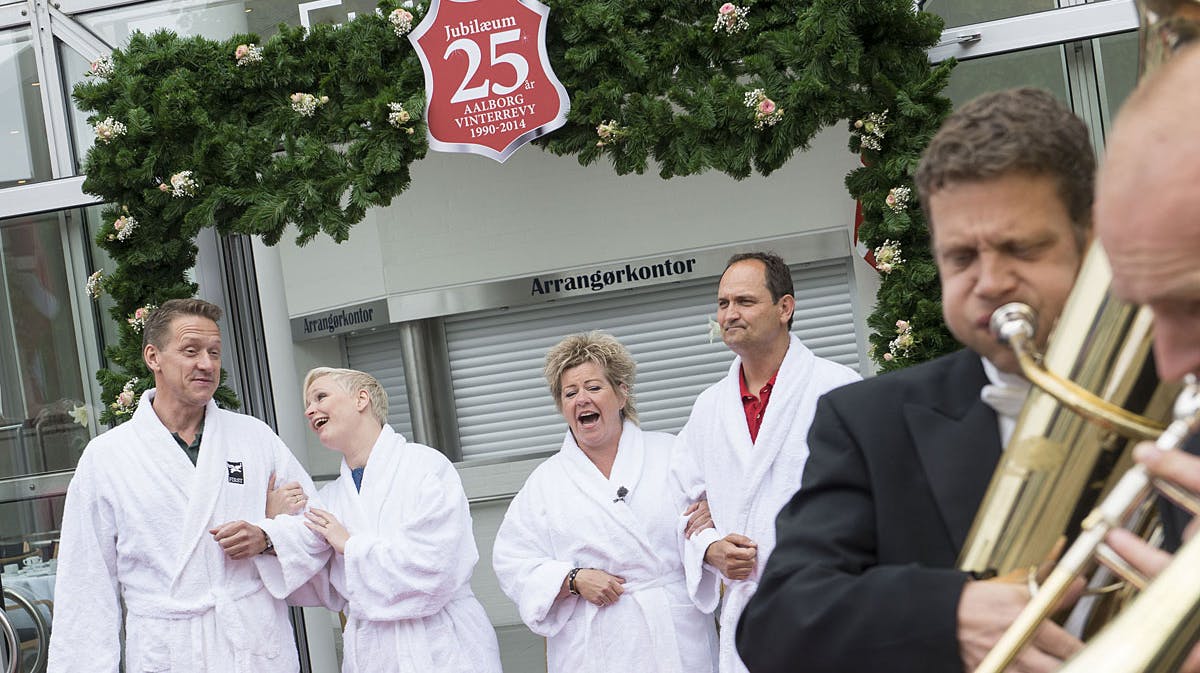
[[[566,337],[546,354],[566,437],[496,535],[500,588],[547,638],[550,673],[715,671],[713,617],[684,577],[689,503],[671,477],[674,438],[638,427],[634,369],[625,347],[602,332]],[[715,573],[700,584],[696,594],[715,606]]]

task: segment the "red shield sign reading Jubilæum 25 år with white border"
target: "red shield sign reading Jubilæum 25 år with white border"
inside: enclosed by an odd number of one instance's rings
[[[503,162],[566,124],[538,0],[433,0],[408,36],[425,68],[430,148]]]

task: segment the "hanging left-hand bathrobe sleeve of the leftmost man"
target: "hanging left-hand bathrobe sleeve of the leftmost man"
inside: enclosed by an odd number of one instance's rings
[[[54,589],[49,673],[118,673],[121,605],[116,522],[85,453],[67,488]]]

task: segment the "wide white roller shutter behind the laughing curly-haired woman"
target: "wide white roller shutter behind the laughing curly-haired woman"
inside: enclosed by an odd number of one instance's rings
[[[793,268],[793,331],[818,356],[858,368],[845,260]],[[445,319],[463,458],[557,449],[566,425],[541,378],[542,359],[569,334],[604,330],[637,361],[634,391],[646,429],[678,432],[691,404],[733,355],[709,343],[716,281],[702,278],[452,316]]]

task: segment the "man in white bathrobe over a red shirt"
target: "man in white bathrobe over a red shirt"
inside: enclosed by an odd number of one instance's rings
[[[745,671],[733,643],[738,617],[775,546],[775,515],[800,487],[817,398],[859,379],[791,334],[792,293],[791,270],[778,256],[730,259],[716,320],[737,357],[696,399],[678,438],[673,474],[691,499],[707,494],[715,525],[697,533],[703,559],[685,559],[689,587],[700,585],[704,566],[725,578],[720,673]]]

